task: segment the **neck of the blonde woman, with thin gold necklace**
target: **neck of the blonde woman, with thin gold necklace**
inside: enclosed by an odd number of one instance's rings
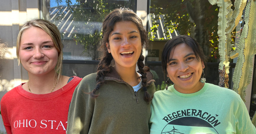
[[[44,75],[34,75],[31,73],[28,73],[28,77],[29,77],[29,82],[26,84],[29,84],[30,91],[28,90],[28,85],[24,85],[25,87],[24,89],[25,90],[27,89],[28,92],[31,92],[34,94],[51,93],[56,83],[57,84],[59,83],[59,81],[57,82],[57,75],[55,75],[55,70]],[[57,90],[55,88],[53,91]]]

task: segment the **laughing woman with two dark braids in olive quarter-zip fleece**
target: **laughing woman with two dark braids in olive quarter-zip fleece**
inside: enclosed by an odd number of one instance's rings
[[[67,134],[148,134],[155,81],[143,63],[147,32],[133,11],[122,8],[107,15],[102,33],[98,72],[76,87]]]

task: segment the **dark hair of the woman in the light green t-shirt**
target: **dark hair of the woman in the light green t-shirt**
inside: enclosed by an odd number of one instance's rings
[[[187,44],[195,53],[195,57],[197,60],[202,60],[204,63],[204,70],[205,72],[207,71],[207,64],[206,64],[206,56],[203,53],[203,49],[200,47],[199,43],[189,37],[188,35],[179,35],[176,36],[174,38],[172,38],[171,40],[167,41],[164,45],[163,48],[163,53],[162,53],[162,68],[164,71],[164,74],[167,74],[167,63],[169,61],[170,55],[171,53],[173,53],[173,50],[175,49],[175,47],[179,44]]]

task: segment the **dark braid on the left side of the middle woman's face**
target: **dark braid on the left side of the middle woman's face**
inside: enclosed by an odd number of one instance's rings
[[[96,76],[97,85],[95,89],[93,89],[90,93],[93,98],[97,98],[99,96],[99,94],[96,94],[96,91],[98,91],[100,89],[100,86],[104,83],[105,74],[110,72],[109,65],[111,64],[112,59],[112,55],[108,53],[100,60]]]

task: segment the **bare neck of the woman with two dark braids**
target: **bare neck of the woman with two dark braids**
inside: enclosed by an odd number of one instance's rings
[[[120,66],[114,66],[117,73],[120,75],[121,79],[127,82],[131,86],[136,86],[139,84],[140,79],[136,72],[136,64],[130,68],[123,68]]]

